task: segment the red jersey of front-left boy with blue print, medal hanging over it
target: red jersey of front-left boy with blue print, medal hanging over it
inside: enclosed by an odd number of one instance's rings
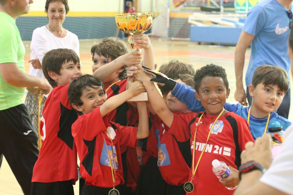
[[[107,130],[112,139],[113,148]],[[124,183],[120,146],[135,147],[136,132],[136,127],[123,127],[117,123],[108,122],[108,115],[102,118],[100,108],[80,116],[73,123],[72,135],[81,162],[80,173],[87,185],[113,187],[110,161],[113,169],[116,170],[115,186]]]

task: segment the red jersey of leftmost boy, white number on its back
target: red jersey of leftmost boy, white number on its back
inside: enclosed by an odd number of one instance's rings
[[[32,182],[77,181],[77,153],[71,134],[77,113],[69,104],[68,87],[54,87],[45,101],[40,123],[42,147]]]

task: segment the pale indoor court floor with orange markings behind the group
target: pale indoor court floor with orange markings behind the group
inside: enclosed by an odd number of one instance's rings
[[[99,41],[100,40],[98,39],[80,40],[80,60],[82,63],[82,73],[92,73],[92,59],[90,54],[91,46],[98,44]],[[168,41],[163,39],[151,39],[151,42],[154,48],[155,63],[158,64],[157,70],[162,63],[166,63],[172,59],[177,59],[179,61],[192,64],[195,69],[210,63],[224,67],[226,69],[229,81],[229,88],[231,90],[229,99],[227,101],[230,103],[236,103],[234,99],[234,92],[236,89],[236,80],[234,74],[234,46],[199,45],[197,44],[197,42]],[[28,73],[28,61],[30,59],[30,42],[24,42],[24,44],[26,48],[25,68],[26,73]],[[247,49],[244,70],[247,69],[249,54],[250,49]],[[23,101],[24,99],[25,98],[23,98]],[[289,114],[289,120],[292,121],[292,119],[293,109],[291,109]],[[0,195],[22,194],[21,187],[18,185],[5,159],[3,160],[0,169],[0,176]],[[74,186],[75,194],[78,194],[78,189],[79,183],[77,182]]]

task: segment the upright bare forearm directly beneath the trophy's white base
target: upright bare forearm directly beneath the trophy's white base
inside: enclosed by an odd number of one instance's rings
[[[147,114],[147,105],[144,101],[137,102],[139,123],[136,139],[143,139],[149,136],[149,119]]]

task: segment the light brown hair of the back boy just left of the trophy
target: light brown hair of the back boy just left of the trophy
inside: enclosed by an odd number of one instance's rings
[[[99,56],[104,56],[110,59],[110,61],[115,60],[119,56],[123,56],[128,53],[128,49],[121,39],[116,37],[104,38],[98,45],[94,45],[91,48],[91,54],[94,56],[98,54]],[[93,58],[93,57],[92,57]],[[127,66],[122,66],[124,70],[119,74],[119,79],[126,79]]]

